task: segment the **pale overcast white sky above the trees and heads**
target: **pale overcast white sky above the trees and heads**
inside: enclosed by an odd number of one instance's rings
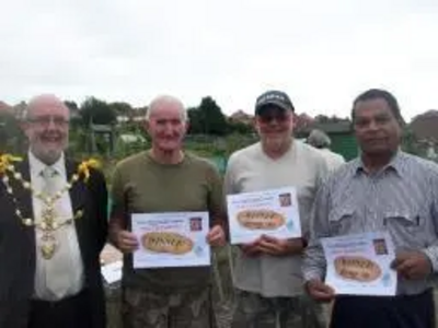
[[[298,114],[348,117],[370,87],[405,119],[438,108],[437,0],[0,0],[0,101],[41,93],[253,113],[266,90]]]

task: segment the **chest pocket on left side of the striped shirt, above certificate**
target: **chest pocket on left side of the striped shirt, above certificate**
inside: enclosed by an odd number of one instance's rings
[[[347,235],[358,233],[359,222],[357,222],[354,208],[337,208],[328,213],[328,225],[332,235]]]

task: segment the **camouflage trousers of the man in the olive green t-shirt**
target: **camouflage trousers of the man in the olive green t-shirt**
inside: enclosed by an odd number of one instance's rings
[[[216,328],[211,291],[159,294],[126,288],[122,317],[125,328]]]

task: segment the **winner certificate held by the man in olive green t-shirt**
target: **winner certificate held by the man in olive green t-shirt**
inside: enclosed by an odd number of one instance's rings
[[[134,268],[209,266],[208,212],[134,213]]]

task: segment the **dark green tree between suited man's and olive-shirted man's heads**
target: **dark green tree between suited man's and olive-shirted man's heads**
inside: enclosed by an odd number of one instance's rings
[[[82,124],[85,126],[90,124],[112,125],[117,119],[114,108],[104,101],[95,97],[89,97],[82,103],[80,115]]]

